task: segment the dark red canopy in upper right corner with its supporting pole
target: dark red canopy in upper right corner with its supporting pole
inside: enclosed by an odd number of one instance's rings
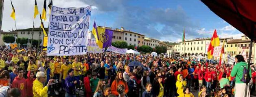
[[[251,39],[249,60],[251,62],[252,42],[256,42],[256,0],[201,0],[216,15],[230,23]],[[249,75],[249,65],[247,75]],[[247,78],[246,87],[249,82]],[[247,88],[245,89],[245,94]],[[245,95],[246,97],[246,95]]]

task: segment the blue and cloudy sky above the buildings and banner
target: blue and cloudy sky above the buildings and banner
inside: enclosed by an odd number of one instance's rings
[[[35,0],[12,0],[16,12],[17,29],[33,27]],[[42,13],[44,0],[37,0],[39,12]],[[47,0],[47,5],[49,0]],[[124,27],[162,41],[179,42],[182,40],[183,28],[186,39],[211,37],[214,29],[220,38],[241,38],[243,35],[223,19],[215,15],[200,0],[53,0],[54,6],[81,7],[92,4],[89,29],[94,18],[97,25]],[[10,0],[4,0],[2,30],[15,30],[11,14]],[[47,8],[48,27],[49,11]],[[39,15],[35,27],[39,27]]]

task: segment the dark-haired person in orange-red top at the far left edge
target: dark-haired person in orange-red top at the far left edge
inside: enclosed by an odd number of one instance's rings
[[[4,70],[3,72],[1,72],[0,74],[0,85],[3,86],[10,86],[10,75],[9,72],[7,70]]]

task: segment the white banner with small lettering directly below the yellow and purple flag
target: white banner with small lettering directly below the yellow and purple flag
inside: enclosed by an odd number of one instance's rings
[[[96,40],[88,39],[87,52],[89,53],[103,53],[105,48],[99,48]]]

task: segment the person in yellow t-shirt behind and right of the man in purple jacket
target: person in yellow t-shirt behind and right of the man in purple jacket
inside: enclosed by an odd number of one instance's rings
[[[78,61],[78,57],[74,58],[74,62],[72,63],[73,69],[74,69],[74,77],[77,79],[80,79],[80,74],[79,72],[81,71],[80,66],[81,62]]]

